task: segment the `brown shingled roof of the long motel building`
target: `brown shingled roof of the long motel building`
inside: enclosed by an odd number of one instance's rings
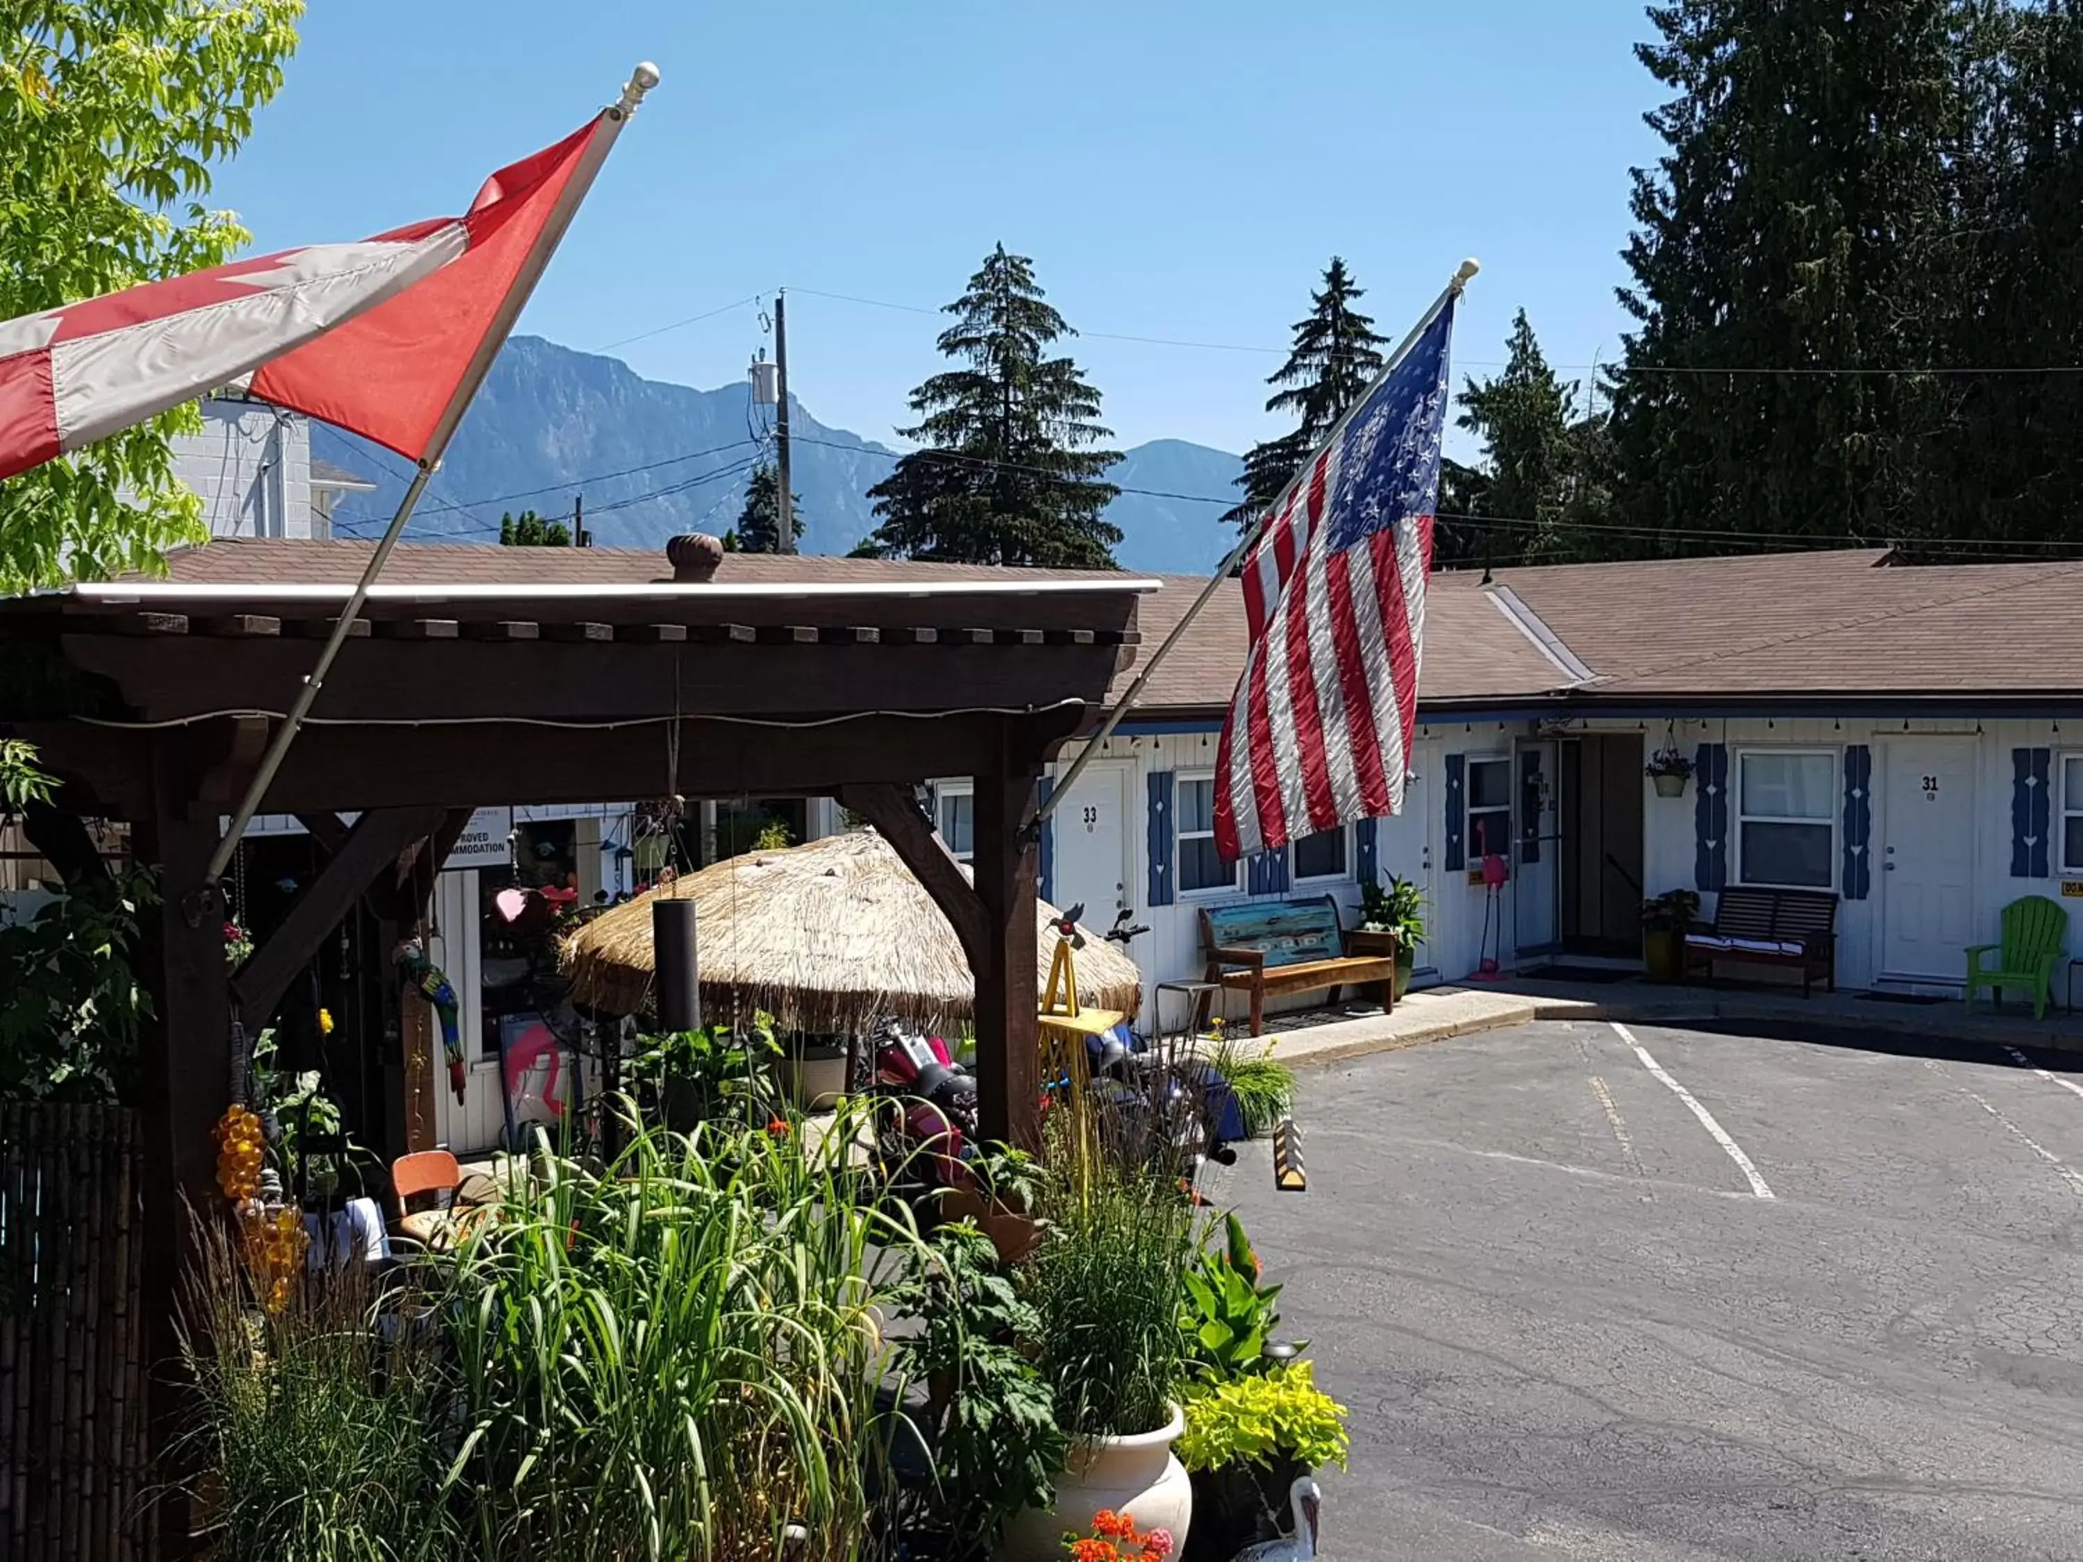
[[[354,581],[367,541],[225,537],[169,558],[175,581]],[[1481,700],[1791,698],[2083,691],[2083,564],[1887,566],[1881,550],[1502,569],[1431,581],[1421,698]],[[721,581],[921,583],[1108,579],[1106,571],[727,554]],[[404,544],[385,581],[646,583],[664,554],[617,548]],[[1119,579],[1119,577],[1116,577]],[[1141,604],[1141,658],[1179,621],[1202,577],[1160,577]],[[1527,623],[1500,606],[1516,600]],[[1552,633],[1558,652],[1541,648]],[[1116,681],[1116,694],[1141,666]],[[1575,658],[1589,679],[1573,675]],[[1225,583],[1144,694],[1146,714],[1214,714],[1244,664],[1244,600]]]

